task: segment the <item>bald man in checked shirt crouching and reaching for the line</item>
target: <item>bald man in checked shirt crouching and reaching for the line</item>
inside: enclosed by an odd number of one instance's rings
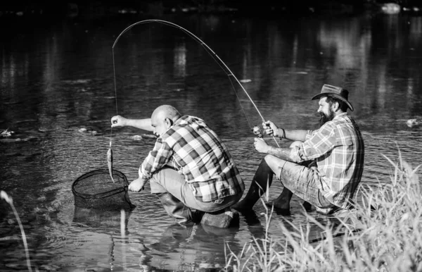
[[[191,209],[196,209],[206,212],[202,223],[229,227],[234,216],[229,207],[241,199],[245,185],[228,149],[203,120],[162,105],[151,118],[113,116],[111,123],[158,136],[129,190],[139,192],[149,181],[151,193],[178,223],[193,222]]]

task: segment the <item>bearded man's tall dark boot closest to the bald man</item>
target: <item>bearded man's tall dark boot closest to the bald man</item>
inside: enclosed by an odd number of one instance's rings
[[[267,191],[267,187],[269,188],[271,186],[273,175],[274,173],[271,168],[269,168],[267,161],[263,159],[255,172],[245,198],[231,206],[231,208],[238,211],[251,210],[262,194]]]

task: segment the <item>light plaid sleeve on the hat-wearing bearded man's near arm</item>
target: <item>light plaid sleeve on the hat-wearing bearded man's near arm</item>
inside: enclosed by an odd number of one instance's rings
[[[335,125],[332,122],[324,124],[319,130],[309,130],[307,140],[291,151],[296,162],[309,161],[328,154],[335,146]]]

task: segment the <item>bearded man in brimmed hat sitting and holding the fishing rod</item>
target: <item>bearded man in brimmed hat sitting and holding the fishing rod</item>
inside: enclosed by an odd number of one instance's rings
[[[269,204],[289,214],[293,194],[312,204],[321,214],[333,214],[354,207],[353,196],[364,169],[364,140],[358,125],[347,114],[353,111],[349,92],[324,85],[319,99],[318,130],[285,130],[271,121],[262,123],[268,135],[294,141],[289,148],[269,146],[255,138],[257,152],[267,154],[258,167],[246,196],[233,209],[252,209],[272,183],[273,175],[283,184],[283,191]]]

